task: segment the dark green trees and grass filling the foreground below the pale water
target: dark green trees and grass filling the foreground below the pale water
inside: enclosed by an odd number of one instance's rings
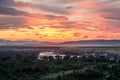
[[[120,63],[105,57],[37,60],[38,52],[0,52],[0,80],[120,80]]]

